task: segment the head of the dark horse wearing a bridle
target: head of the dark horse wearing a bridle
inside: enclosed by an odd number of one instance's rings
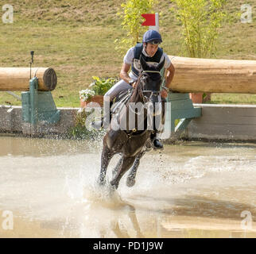
[[[161,114],[161,68],[164,67],[165,60],[157,64],[147,64],[144,58],[140,57],[142,64],[142,74],[140,77],[140,90],[143,102],[151,102],[153,105],[153,114]]]

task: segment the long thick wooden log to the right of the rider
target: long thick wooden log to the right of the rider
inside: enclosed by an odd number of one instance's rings
[[[256,61],[169,56],[175,67],[173,91],[256,94]]]

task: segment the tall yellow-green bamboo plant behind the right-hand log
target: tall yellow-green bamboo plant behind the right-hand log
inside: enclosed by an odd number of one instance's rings
[[[219,28],[227,17],[226,0],[172,0],[182,23],[184,46],[189,57],[208,58],[216,51]]]

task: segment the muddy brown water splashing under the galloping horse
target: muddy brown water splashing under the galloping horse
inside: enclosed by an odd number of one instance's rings
[[[165,145],[118,191],[95,184],[101,148],[0,136],[0,237],[256,237],[256,144]]]

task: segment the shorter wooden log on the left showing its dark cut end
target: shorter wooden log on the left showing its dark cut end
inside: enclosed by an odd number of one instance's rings
[[[37,76],[38,90],[54,90],[56,72],[48,67],[33,67],[31,77]],[[29,90],[29,67],[0,67],[0,90]]]

